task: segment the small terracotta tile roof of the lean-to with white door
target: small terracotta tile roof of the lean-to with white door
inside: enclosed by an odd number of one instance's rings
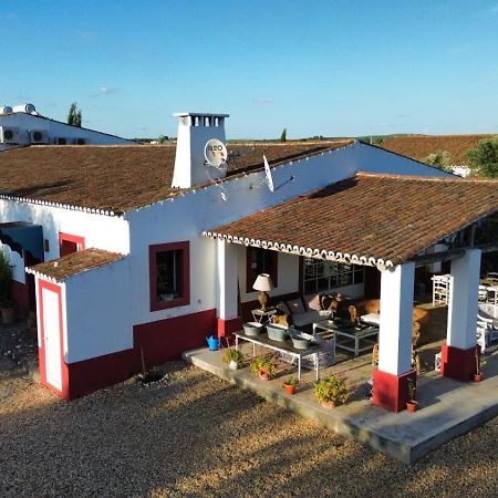
[[[48,277],[50,280],[55,280],[56,282],[63,282],[69,277],[94,270],[122,258],[124,256],[117,252],[90,248],[52,261],[35,264],[34,267],[29,267],[27,268],[27,272]]]

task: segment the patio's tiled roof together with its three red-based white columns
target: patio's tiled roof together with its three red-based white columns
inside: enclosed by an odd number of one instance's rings
[[[373,376],[373,404],[401,412],[408,382],[416,382],[412,335],[417,268],[450,261],[440,371],[460,382],[476,373],[480,257],[497,246],[477,247],[474,237],[476,226],[497,210],[494,180],[357,174],[205,231],[216,239],[218,333],[229,335],[241,328],[240,245],[375,269],[381,276],[378,365],[372,374],[369,355],[364,366]],[[418,381],[417,396],[423,398],[424,391]]]

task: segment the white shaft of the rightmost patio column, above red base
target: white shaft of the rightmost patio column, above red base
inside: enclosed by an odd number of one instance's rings
[[[476,345],[480,249],[467,249],[452,261],[447,345],[469,350]]]

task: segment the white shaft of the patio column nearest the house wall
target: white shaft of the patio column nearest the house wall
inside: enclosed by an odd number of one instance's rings
[[[218,318],[237,318],[238,251],[235,243],[216,240],[216,303]]]

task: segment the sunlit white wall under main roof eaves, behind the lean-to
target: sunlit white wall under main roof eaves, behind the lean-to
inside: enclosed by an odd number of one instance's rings
[[[27,221],[43,226],[43,238],[50,251],[45,260],[59,258],[59,232],[85,238],[87,248],[113,252],[129,252],[128,224],[122,217],[56,208],[15,200],[0,199],[0,221]]]

